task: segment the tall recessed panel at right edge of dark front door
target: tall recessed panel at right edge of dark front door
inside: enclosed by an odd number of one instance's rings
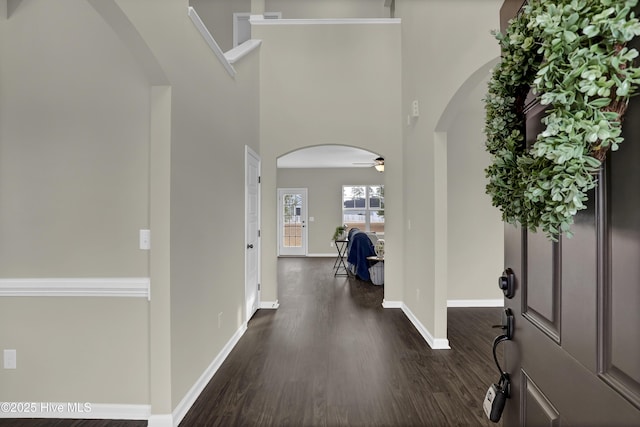
[[[634,194],[640,172],[634,162],[640,150],[635,146],[625,148],[626,156],[609,156],[599,177],[600,191],[608,197],[601,197],[604,202],[599,206],[604,244],[599,283],[598,368],[605,383],[640,408],[640,344],[634,340],[640,317],[635,306],[640,298],[637,267],[640,221],[635,219],[640,198]],[[619,171],[624,171],[624,175]]]

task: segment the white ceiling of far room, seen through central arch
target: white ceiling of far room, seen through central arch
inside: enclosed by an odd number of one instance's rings
[[[303,148],[278,158],[279,168],[368,168],[377,154],[345,145]]]

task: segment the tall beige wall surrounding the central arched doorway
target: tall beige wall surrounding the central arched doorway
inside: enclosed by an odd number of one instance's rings
[[[385,158],[385,298],[401,300],[400,25],[254,25],[261,47],[262,298],[277,299],[276,159],[343,144]],[[334,226],[335,228],[335,226]]]

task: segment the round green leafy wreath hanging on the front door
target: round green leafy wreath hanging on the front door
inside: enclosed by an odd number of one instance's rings
[[[487,193],[509,223],[571,235],[574,215],[609,149],[623,141],[622,117],[640,84],[638,0],[532,0],[504,34],[502,60],[485,99]],[[545,129],[525,142],[529,89]]]

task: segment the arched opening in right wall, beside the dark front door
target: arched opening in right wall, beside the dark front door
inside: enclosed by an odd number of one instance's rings
[[[451,98],[435,132],[436,247],[442,249],[437,292],[448,307],[502,306],[495,278],[503,265],[500,212],[485,194],[482,99],[495,58],[474,71]],[[464,268],[462,268],[464,267]],[[445,309],[446,312],[446,309]]]

